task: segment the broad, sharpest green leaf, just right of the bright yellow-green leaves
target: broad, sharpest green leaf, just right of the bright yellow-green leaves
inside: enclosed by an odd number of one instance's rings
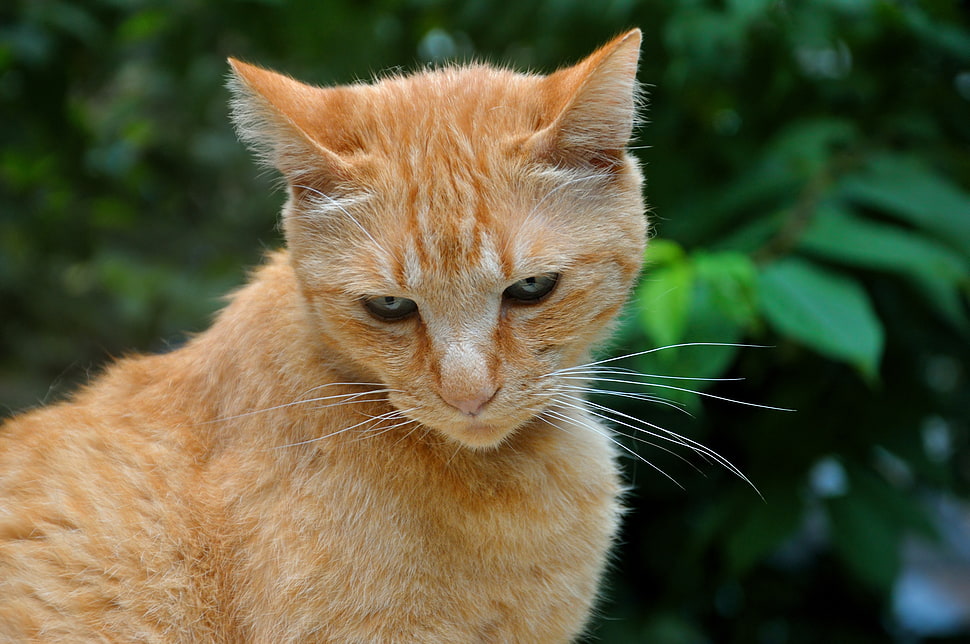
[[[883,329],[854,280],[786,258],[762,270],[759,291],[761,311],[780,333],[876,376]]]

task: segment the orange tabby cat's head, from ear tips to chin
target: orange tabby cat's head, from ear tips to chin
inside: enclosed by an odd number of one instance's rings
[[[639,43],[549,76],[472,65],[334,88],[230,61],[237,129],[288,183],[321,343],[409,418],[498,444],[620,310],[645,244],[626,151]]]

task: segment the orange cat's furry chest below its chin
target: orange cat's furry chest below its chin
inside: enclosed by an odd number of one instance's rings
[[[608,450],[572,461],[567,448],[512,459],[506,472],[467,459],[463,469],[323,458],[257,488],[236,518],[245,630],[275,641],[545,641],[534,630],[544,615],[556,641],[585,615],[618,511]]]

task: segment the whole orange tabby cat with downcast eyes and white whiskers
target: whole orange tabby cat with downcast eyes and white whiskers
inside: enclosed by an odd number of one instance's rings
[[[580,634],[621,483],[557,370],[640,269],[639,42],[328,89],[230,61],[287,250],[0,428],[0,640]]]

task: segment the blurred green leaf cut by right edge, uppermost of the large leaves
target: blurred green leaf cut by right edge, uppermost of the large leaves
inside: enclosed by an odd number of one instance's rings
[[[850,199],[930,231],[970,256],[970,194],[918,160],[876,156],[863,173],[846,179],[842,190]]]

